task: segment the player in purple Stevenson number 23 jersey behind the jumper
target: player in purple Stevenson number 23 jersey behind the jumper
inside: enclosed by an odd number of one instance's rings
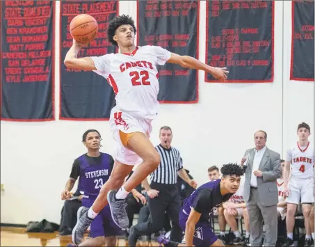
[[[114,159],[110,154],[99,152],[101,147],[101,135],[96,129],[88,129],[82,136],[83,144],[88,149],[86,154],[74,160],[70,181],[75,183],[79,177],[79,189],[83,194],[82,206],[77,212],[77,219],[84,214],[99,194],[99,190],[106,183],[114,166]],[[135,191],[132,191],[133,193]],[[136,191],[135,193],[138,193]],[[139,193],[140,194],[140,193]],[[134,195],[137,196],[137,195]],[[142,196],[140,194],[140,196]],[[72,231],[72,241],[76,234],[76,227]],[[86,239],[79,246],[115,246],[116,236],[122,234],[121,229],[113,222],[111,209],[108,205],[102,209],[90,224],[90,239]],[[69,244],[68,246],[76,246]]]

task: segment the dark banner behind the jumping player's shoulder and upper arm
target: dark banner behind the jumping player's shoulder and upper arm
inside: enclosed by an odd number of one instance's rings
[[[138,0],[138,45],[156,45],[198,58],[199,1]],[[198,73],[179,65],[158,66],[161,103],[197,103]]]

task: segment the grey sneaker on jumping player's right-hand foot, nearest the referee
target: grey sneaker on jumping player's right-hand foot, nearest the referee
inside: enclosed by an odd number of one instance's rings
[[[116,225],[122,230],[126,230],[129,227],[129,219],[126,211],[126,200],[116,199],[117,189],[109,191],[107,193],[107,201],[109,207],[111,207],[111,217]]]

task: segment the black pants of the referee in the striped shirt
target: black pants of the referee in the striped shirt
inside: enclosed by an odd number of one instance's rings
[[[149,220],[145,223],[135,225],[140,235],[148,235],[158,232],[163,228],[165,220],[165,212],[168,214],[172,223],[170,239],[181,243],[182,231],[179,227],[179,211],[181,209],[181,200],[176,184],[159,184],[152,182],[151,189],[156,189],[159,196],[148,200],[150,208]]]

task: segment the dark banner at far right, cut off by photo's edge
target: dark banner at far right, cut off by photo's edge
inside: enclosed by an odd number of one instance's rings
[[[290,80],[314,81],[314,0],[292,1]]]

